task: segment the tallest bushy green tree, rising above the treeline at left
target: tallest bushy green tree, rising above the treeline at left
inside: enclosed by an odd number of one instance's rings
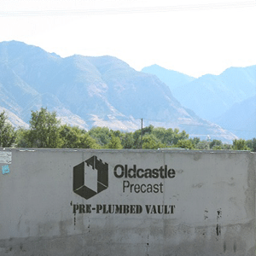
[[[61,146],[59,135],[61,121],[56,118],[55,112],[50,113],[47,108],[32,111],[29,123],[29,147],[59,148]]]

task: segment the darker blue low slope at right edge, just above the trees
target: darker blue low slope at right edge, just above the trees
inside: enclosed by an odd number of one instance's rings
[[[236,103],[216,121],[238,137],[252,139],[256,134],[256,96]]]

